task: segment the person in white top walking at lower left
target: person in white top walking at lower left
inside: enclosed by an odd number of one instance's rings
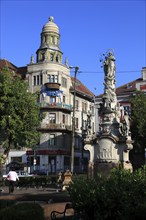
[[[15,183],[17,180],[19,181],[18,174],[16,173],[14,168],[12,168],[12,170],[9,171],[9,173],[7,175],[7,180],[9,182],[9,193],[13,193]]]

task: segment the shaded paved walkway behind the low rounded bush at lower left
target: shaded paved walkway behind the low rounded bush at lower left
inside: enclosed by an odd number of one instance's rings
[[[64,211],[67,202],[70,202],[67,192],[60,192],[57,188],[15,188],[13,194],[8,193],[8,187],[2,187],[0,200],[16,200],[17,202],[39,203],[44,209],[45,220],[50,220],[52,211]],[[69,210],[73,215],[73,210]]]

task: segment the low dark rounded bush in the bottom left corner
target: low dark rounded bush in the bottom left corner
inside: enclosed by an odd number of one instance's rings
[[[19,203],[0,210],[1,220],[44,220],[44,210],[36,203]]]

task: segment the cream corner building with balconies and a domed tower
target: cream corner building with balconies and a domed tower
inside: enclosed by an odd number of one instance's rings
[[[43,116],[40,143],[27,151],[31,171],[58,173],[70,169],[72,146],[72,118],[75,113],[74,172],[87,169],[89,155],[83,149],[83,135],[87,118],[91,115],[94,133],[94,94],[70,75],[70,67],[60,50],[60,33],[54,18],[43,26],[41,44],[27,65],[26,80],[29,91],[38,93],[40,113]],[[76,79],[76,80],[75,80]],[[75,85],[74,85],[75,83]],[[75,90],[75,93],[74,93]],[[75,98],[75,106],[73,100]],[[73,108],[74,107],[74,108]]]

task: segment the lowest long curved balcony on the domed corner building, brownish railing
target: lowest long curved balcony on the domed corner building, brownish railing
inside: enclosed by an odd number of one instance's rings
[[[65,132],[70,133],[72,127],[70,125],[60,124],[41,124],[41,127],[38,128],[39,131],[50,131],[50,132]]]

